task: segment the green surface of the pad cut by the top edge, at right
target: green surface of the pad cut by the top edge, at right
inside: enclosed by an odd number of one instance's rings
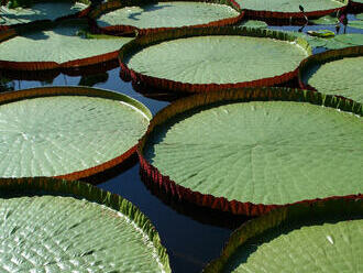
[[[330,10],[346,6],[346,3],[333,0],[237,0],[237,2],[243,9],[275,12],[300,12],[299,6],[304,7],[305,12]]]

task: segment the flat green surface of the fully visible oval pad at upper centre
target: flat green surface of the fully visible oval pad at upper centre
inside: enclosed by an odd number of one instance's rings
[[[237,84],[283,75],[306,56],[306,50],[288,41],[206,35],[150,45],[125,64],[143,75],[179,83]]]

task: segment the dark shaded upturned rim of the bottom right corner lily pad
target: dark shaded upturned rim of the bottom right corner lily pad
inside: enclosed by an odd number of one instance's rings
[[[277,228],[283,222],[299,221],[304,225],[304,220],[311,218],[319,220],[322,217],[336,218],[341,217],[350,220],[351,217],[362,219],[363,216],[363,196],[355,195],[344,198],[331,198],[318,200],[314,204],[294,204],[242,223],[229,238],[221,255],[211,261],[202,270],[202,272],[222,272],[228,260],[233,253],[252,238],[258,238],[264,231]]]

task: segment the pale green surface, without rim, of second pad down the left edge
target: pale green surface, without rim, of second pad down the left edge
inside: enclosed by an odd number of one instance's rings
[[[116,52],[131,37],[85,39],[82,25],[61,24],[18,35],[0,43],[0,59],[10,62],[55,62],[58,64]]]

